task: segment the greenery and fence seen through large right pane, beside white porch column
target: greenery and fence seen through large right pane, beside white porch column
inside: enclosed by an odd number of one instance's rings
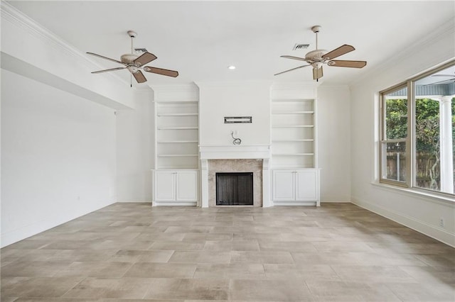
[[[415,186],[441,190],[439,101],[415,100]]]

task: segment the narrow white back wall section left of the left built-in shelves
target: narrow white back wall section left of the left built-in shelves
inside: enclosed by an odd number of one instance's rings
[[[136,91],[134,110],[117,114],[117,201],[151,202],[153,91]]]

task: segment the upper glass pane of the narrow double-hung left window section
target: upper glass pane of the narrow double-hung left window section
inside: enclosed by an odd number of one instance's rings
[[[407,137],[407,89],[385,95],[385,140]]]

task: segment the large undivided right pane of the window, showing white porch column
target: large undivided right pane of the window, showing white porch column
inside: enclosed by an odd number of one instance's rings
[[[455,66],[414,83],[414,185],[454,193]]]

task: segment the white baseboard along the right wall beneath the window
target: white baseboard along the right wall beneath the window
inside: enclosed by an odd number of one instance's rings
[[[396,223],[400,223],[401,225],[405,225],[408,228],[412,228],[412,230],[416,230],[419,233],[432,237],[440,242],[445,243],[446,245],[455,247],[455,234],[449,233],[446,230],[437,227],[436,225],[429,225],[424,221],[417,220],[410,216],[402,215],[400,213],[389,211],[386,208],[376,206],[373,203],[360,201],[358,198],[355,197],[352,198],[351,202],[357,206],[360,206],[361,208],[365,208],[368,211],[371,211],[380,216],[393,220]]]

